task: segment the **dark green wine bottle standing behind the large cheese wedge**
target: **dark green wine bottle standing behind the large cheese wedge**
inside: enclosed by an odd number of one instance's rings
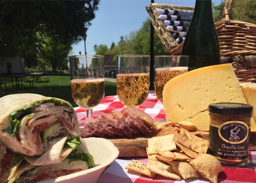
[[[188,70],[220,64],[220,46],[213,21],[211,0],[196,0],[181,55],[189,55]]]

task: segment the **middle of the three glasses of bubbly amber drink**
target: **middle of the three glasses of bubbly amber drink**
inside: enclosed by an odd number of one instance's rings
[[[149,55],[116,56],[116,93],[126,106],[139,106],[148,97]]]

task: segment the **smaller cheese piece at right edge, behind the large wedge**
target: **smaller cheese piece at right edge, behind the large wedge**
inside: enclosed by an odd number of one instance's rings
[[[253,119],[256,121],[256,83],[240,83],[246,102],[253,106]],[[253,121],[251,122],[251,129],[254,128]]]

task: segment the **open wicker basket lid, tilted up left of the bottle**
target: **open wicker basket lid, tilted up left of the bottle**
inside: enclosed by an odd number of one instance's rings
[[[179,45],[179,43],[176,41],[176,39],[172,34],[172,32],[178,32],[178,31],[173,31],[166,28],[166,25],[164,25],[163,21],[159,20],[158,18],[160,15],[158,13],[158,9],[177,10],[179,12],[178,15],[181,16],[181,20],[186,22],[186,26],[189,27],[195,8],[190,6],[175,6],[175,5],[151,3],[150,6],[146,6],[146,9],[149,14],[149,17],[151,18],[151,23],[155,28],[155,31],[158,34],[160,40],[162,41],[166,52],[170,52],[173,48]],[[186,30],[188,30],[188,28]]]

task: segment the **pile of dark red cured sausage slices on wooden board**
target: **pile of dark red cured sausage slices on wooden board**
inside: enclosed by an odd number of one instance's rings
[[[112,110],[103,114],[81,128],[81,137],[134,137],[148,135],[156,130],[150,115],[135,107],[126,107],[122,111]]]

